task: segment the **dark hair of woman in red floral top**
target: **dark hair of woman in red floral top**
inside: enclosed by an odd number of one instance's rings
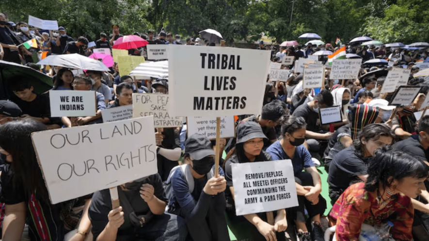
[[[385,190],[394,180],[401,181],[406,177],[427,178],[429,167],[409,154],[385,146],[377,150],[375,156],[370,159],[365,190],[374,192],[380,184]]]

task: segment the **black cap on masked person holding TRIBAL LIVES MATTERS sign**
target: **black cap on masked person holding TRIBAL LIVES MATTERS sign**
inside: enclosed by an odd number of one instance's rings
[[[185,153],[193,160],[201,160],[206,156],[214,156],[210,140],[201,134],[195,133],[185,141]]]

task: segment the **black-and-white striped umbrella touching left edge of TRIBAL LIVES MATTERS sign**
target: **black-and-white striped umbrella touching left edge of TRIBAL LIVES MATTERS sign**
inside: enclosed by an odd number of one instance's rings
[[[143,78],[168,78],[168,60],[141,63],[129,75]]]

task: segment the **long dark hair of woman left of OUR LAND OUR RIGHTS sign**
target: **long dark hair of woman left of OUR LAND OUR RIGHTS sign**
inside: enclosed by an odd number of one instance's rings
[[[13,158],[13,187],[22,184],[27,198],[37,191],[37,194],[48,202],[48,190],[31,139],[33,132],[44,130],[46,126],[36,120],[10,121],[0,126],[0,147]]]

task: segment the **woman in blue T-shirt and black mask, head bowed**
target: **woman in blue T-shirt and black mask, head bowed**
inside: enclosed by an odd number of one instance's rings
[[[302,145],[305,141],[304,118],[290,116],[282,125],[282,139],[274,142],[267,152],[272,160],[291,159],[294,169],[299,206],[292,208],[295,215],[298,237],[301,240],[323,240],[320,215],[325,212],[326,200],[320,195],[322,183],[310,152]],[[302,170],[305,168],[306,172]],[[305,211],[311,219],[312,230],[309,233]]]

